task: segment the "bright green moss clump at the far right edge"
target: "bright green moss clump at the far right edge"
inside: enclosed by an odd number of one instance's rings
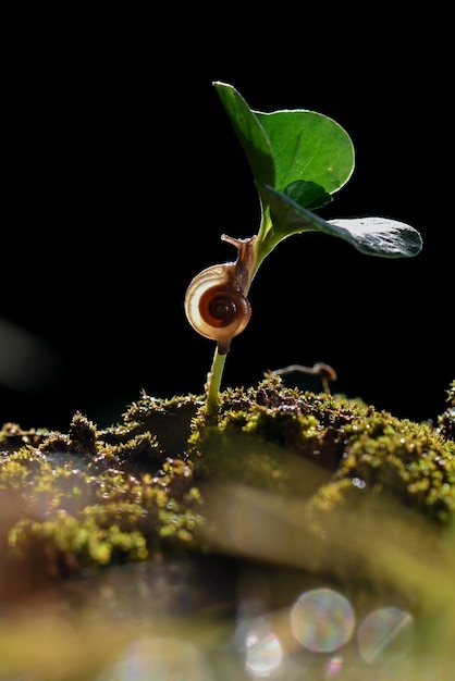
[[[347,424],[344,443],[332,480],[332,487],[343,485],[342,497],[360,503],[370,494],[383,494],[432,520],[451,519],[455,509],[455,446],[429,424],[398,420],[388,412],[373,413]]]

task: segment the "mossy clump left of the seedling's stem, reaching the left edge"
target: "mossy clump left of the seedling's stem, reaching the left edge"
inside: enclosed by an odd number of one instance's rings
[[[14,495],[16,512],[0,542],[35,572],[144,560],[189,546],[204,522],[187,463],[167,457],[148,432],[125,439],[114,428],[112,445],[104,435],[76,413],[67,435],[42,432],[36,446],[1,453],[0,506]],[[14,437],[28,434],[16,426]]]

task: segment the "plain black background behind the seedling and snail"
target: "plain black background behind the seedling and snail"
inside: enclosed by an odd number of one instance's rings
[[[0,326],[0,420],[66,430],[81,410],[102,426],[142,388],[202,391],[214,348],[184,317],[186,286],[235,256],[222,233],[250,236],[259,223],[218,79],[253,109],[310,109],[348,132],[356,170],[322,216],[394,218],[425,243],[409,260],[319,234],[282,243],[255,278],[223,385],[323,361],[335,392],[434,419],[455,376],[444,22],[430,52],[423,16],[410,29],[386,16],[354,28],[323,13],[248,26],[233,10],[172,14],[11,20],[0,315],[50,359],[23,357],[11,377],[19,340]]]

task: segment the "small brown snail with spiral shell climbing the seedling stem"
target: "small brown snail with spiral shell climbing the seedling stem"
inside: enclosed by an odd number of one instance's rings
[[[235,239],[223,234],[221,239],[237,248],[237,260],[214,264],[195,276],[184,307],[193,329],[217,340],[220,355],[226,355],[231,339],[244,331],[251,317],[247,293],[256,263],[257,236]]]

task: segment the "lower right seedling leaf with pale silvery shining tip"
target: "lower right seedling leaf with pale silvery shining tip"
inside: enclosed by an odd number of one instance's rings
[[[267,243],[258,247],[259,264],[279,242],[303,232],[320,231],[336,236],[368,256],[411,258],[422,248],[420,234],[403,222],[377,216],[325,221],[273,187],[257,186],[262,200],[270,206],[273,223],[273,238],[269,236]]]

